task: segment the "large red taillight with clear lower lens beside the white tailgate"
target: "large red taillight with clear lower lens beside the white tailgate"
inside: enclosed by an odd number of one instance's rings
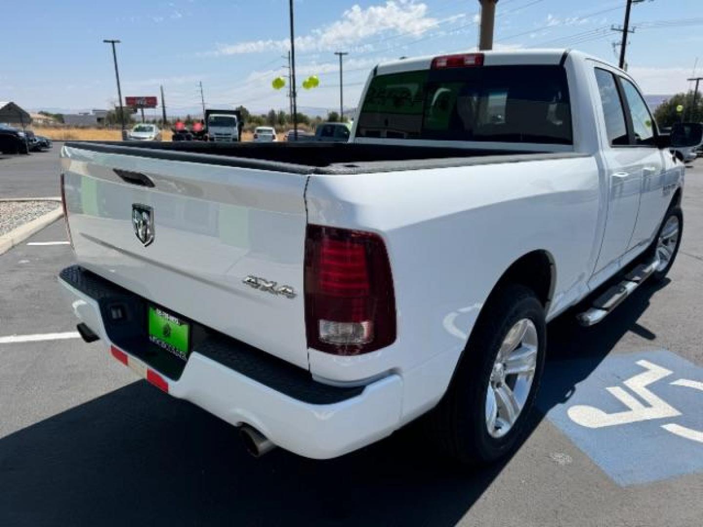
[[[359,355],[396,339],[393,278],[380,236],[309,225],[305,247],[308,346]]]

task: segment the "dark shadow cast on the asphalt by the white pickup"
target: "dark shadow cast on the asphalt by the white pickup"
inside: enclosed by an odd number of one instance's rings
[[[647,334],[637,320],[656,290],[643,287],[591,329],[563,317],[550,325],[531,430],[626,332]],[[569,358],[579,367],[550,375]],[[135,382],[0,440],[0,525],[450,526],[507,462],[454,467],[415,426],[337,460],[282,450],[254,460],[233,427]]]

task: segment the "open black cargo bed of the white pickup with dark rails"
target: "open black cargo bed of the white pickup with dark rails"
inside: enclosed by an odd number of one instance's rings
[[[525,152],[359,143],[217,144],[176,141],[133,144],[129,141],[81,141],[69,142],[66,146],[93,152],[293,174],[361,174],[583,157],[583,154],[576,152]]]

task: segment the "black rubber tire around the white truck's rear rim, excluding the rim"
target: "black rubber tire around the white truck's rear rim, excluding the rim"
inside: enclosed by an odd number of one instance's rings
[[[486,425],[486,393],[491,371],[508,331],[531,320],[538,337],[536,365],[529,395],[519,417],[504,436],[491,436]],[[529,429],[546,352],[544,307],[522,285],[505,285],[491,296],[477,320],[444,398],[429,416],[432,438],[442,453],[465,465],[494,462],[512,453]]]

